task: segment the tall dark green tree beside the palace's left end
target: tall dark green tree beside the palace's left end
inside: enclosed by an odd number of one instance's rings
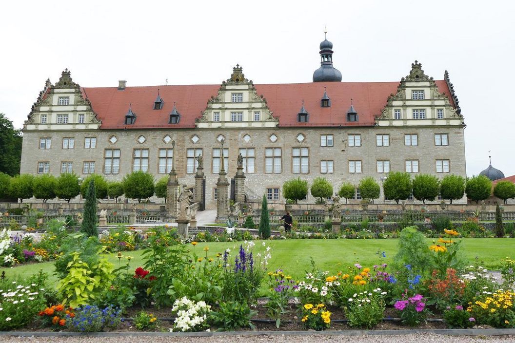
[[[20,173],[20,161],[22,159],[22,135],[20,130],[15,130],[12,121],[7,119],[4,113],[0,113],[0,173],[11,176]]]

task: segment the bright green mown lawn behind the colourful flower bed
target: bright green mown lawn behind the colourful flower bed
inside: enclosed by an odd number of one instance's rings
[[[428,245],[433,241],[433,239],[428,239]],[[263,254],[262,241],[256,241],[255,243],[254,254],[258,252]],[[304,275],[305,270],[310,269],[311,257],[313,257],[317,266],[330,272],[337,272],[356,262],[364,266],[372,266],[383,262],[389,263],[397,252],[398,240],[272,240],[265,241],[265,243],[271,247],[268,269],[282,268],[285,273],[298,279]],[[189,244],[188,248],[191,251],[195,250],[197,255],[204,256],[203,248],[208,246],[209,257],[215,257],[217,252],[222,253],[229,248],[231,249],[231,260],[234,260],[239,244],[241,242],[199,243],[195,247]],[[465,238],[462,239],[462,247],[468,260],[473,262],[477,258],[482,261],[483,266],[489,269],[499,268],[502,258],[515,257],[515,249],[513,249],[515,240],[509,238]],[[376,251],[385,251],[386,259],[380,261],[375,254]],[[133,268],[142,265],[141,254],[141,250],[123,252],[124,256],[133,257],[130,261]],[[116,254],[108,254],[107,256],[109,261],[118,266]],[[122,262],[124,260],[122,259]],[[52,274],[54,264],[52,262],[28,264],[13,268],[1,268],[1,271],[5,271],[7,277],[25,278],[38,272],[39,269]],[[56,280],[55,277],[52,279]]]

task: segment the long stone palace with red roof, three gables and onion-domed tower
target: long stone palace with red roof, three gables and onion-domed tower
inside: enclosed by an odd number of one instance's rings
[[[202,155],[215,208],[224,139],[228,178],[241,153],[246,196],[272,203],[284,202],[281,187],[296,177],[323,176],[337,190],[366,176],[381,184],[390,171],[466,176],[465,123],[447,71],[434,80],[415,61],[400,82],[341,82],[332,47],[320,44],[310,83],[254,84],[236,65],[221,85],[95,88],[66,69],[47,80],[24,124],[21,173],[122,180],[142,170],[159,179],[175,159],[179,182],[193,185]],[[350,201],[360,199],[356,189]]]

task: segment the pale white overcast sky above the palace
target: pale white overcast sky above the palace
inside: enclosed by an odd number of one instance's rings
[[[85,87],[311,82],[324,26],[343,81],[400,81],[418,60],[449,70],[467,128],[467,174],[515,174],[512,1],[8,1],[0,112],[21,128],[45,80]],[[207,99],[206,99],[207,100]],[[386,99],[385,99],[386,102]]]

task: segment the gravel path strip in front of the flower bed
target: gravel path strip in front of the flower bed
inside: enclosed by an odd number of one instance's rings
[[[515,342],[515,336],[442,336],[433,334],[413,334],[402,336],[217,336],[217,337],[0,337],[0,343],[311,343],[311,342],[341,342],[341,343],[468,343],[468,342]]]

